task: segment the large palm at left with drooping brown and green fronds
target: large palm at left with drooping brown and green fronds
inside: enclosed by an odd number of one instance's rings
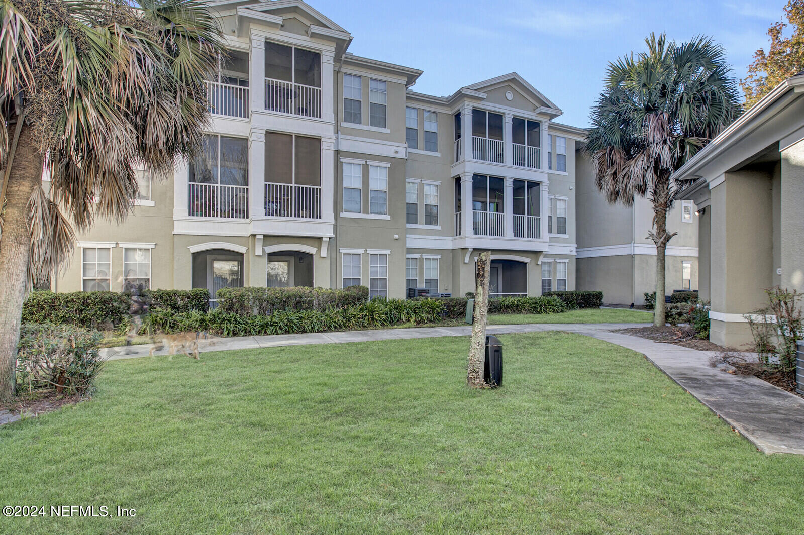
[[[215,19],[197,0],[132,4],[0,0],[0,399],[25,292],[71,253],[69,222],[120,221],[133,164],[165,177],[200,145],[203,80],[224,52]]]

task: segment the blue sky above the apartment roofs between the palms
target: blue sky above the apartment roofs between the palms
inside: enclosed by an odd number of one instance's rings
[[[588,125],[606,63],[644,49],[651,31],[684,41],[710,35],[726,48],[738,77],[786,0],[593,2],[498,0],[344,2],[307,0],[354,36],[349,51],[423,71],[414,90],[453,93],[511,71],[544,93],[564,115]]]

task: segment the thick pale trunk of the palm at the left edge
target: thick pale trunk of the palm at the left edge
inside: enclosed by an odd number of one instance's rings
[[[28,200],[42,180],[42,158],[31,143],[31,129],[23,126],[6,190],[6,211],[0,236],[0,399],[14,395],[20,317],[25,299],[31,233]]]

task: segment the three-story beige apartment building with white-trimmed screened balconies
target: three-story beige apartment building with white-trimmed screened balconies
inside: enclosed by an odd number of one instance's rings
[[[133,214],[81,235],[57,291],[363,284],[492,295],[575,288],[583,131],[515,73],[429,96],[422,71],[347,52],[301,0],[216,0],[231,52],[203,151],[142,171]]]

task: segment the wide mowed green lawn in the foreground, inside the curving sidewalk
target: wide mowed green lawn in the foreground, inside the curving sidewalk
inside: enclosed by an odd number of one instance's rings
[[[802,533],[804,457],[764,455],[643,357],[501,335],[113,361],[96,397],[0,427],[2,533]]]

